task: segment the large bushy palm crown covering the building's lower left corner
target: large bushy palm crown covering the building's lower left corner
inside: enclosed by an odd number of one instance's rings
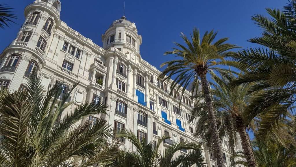
[[[59,83],[52,81],[44,93],[41,76],[32,74],[25,90],[0,90],[0,166],[86,167],[118,152],[108,143],[112,130],[105,120],[83,121],[91,114],[106,114],[107,106],[86,102],[65,113],[78,83],[65,93]]]

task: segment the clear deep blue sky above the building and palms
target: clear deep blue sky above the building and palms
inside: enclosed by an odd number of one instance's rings
[[[61,0],[61,20],[96,44],[102,46],[101,34],[123,15],[123,1]],[[243,48],[256,45],[247,42],[262,32],[250,17],[267,15],[265,8],[280,8],[287,0],[126,0],[125,16],[135,22],[142,35],[140,53],[144,60],[159,68],[173,59],[163,56],[171,50],[173,42],[182,42],[180,32],[189,35],[194,27],[201,34],[207,30],[218,31],[217,38],[229,37],[229,43]],[[33,0],[1,0],[0,3],[15,8],[18,25],[0,29],[0,52],[9,45],[24,22],[24,9]]]

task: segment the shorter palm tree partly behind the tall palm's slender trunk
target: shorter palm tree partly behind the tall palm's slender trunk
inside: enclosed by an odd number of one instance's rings
[[[237,133],[239,133],[242,141],[242,149],[249,167],[256,167],[255,157],[253,155],[250,139],[247,134],[247,129],[255,130],[254,122],[248,124],[244,122],[244,115],[242,115],[244,108],[247,106],[251,98],[247,94],[249,86],[242,84],[237,87],[230,85],[230,81],[234,79],[231,73],[221,73],[221,78],[213,76],[213,89],[210,89],[210,94],[213,95],[213,106],[216,112],[216,120],[218,122],[218,130],[221,140],[224,136],[228,137],[229,148],[234,154],[234,146],[237,144]],[[210,150],[213,148],[212,131],[209,129],[209,120],[206,103],[203,100],[203,94],[199,94],[199,101],[192,109],[192,118],[199,118],[196,124],[195,136],[204,139],[206,148]]]

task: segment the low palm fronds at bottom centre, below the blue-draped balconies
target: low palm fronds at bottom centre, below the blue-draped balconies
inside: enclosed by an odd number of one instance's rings
[[[135,151],[121,151],[110,163],[106,164],[110,167],[190,167],[196,164],[198,167],[205,167],[206,162],[202,156],[200,145],[192,142],[178,142],[165,149],[164,152],[159,151],[159,147],[164,139],[168,137],[160,137],[154,146],[152,142],[146,143],[139,140],[132,131],[126,131],[119,137],[125,137],[136,148]],[[178,154],[180,150],[189,151],[187,154]]]

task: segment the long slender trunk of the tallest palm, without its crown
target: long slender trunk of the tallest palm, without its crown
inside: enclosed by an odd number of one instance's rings
[[[206,74],[207,74],[206,72],[199,74],[200,80],[202,83],[202,92],[205,95],[205,102],[207,105],[209,120],[210,120],[211,127],[212,127],[212,135],[214,137],[213,142],[215,145],[214,149],[215,149],[215,155],[216,155],[216,159],[217,159],[217,165],[218,165],[218,167],[224,167],[222,148],[221,148],[221,143],[220,143],[219,133],[218,133],[218,126],[217,126],[217,122],[216,122],[216,118],[215,118],[215,114],[214,114],[213,101],[212,101],[212,97],[210,95]]]

